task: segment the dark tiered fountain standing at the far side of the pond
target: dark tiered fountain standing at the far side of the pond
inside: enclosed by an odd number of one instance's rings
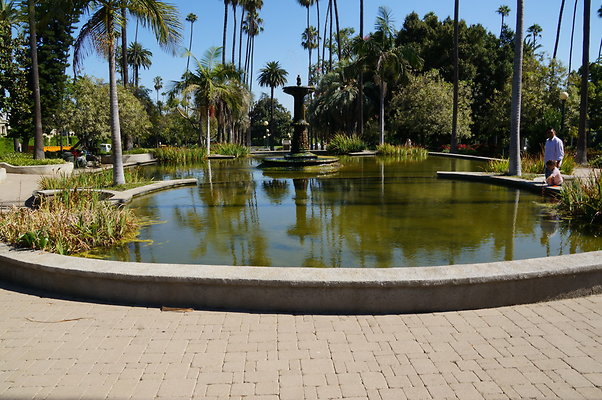
[[[291,140],[291,152],[284,157],[268,157],[260,165],[264,167],[279,167],[303,169],[321,165],[335,166],[339,161],[336,157],[317,156],[309,151],[309,135],[307,127],[309,123],[305,120],[305,104],[303,100],[308,93],[315,90],[313,86],[302,86],[301,77],[297,76],[297,86],[286,86],[284,93],[294,98],[293,116],[293,138]],[[336,164],[338,165],[338,164]]]

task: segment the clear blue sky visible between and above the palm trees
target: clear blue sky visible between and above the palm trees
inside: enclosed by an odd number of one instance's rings
[[[180,10],[182,20],[188,13],[195,13],[198,16],[194,24],[194,35],[192,43],[192,53],[202,58],[205,51],[211,46],[221,46],[224,5],[222,0],[167,0],[175,4]],[[321,20],[324,20],[326,13],[327,0],[320,0]],[[339,19],[341,27],[353,27],[356,32],[359,31],[359,1],[357,0],[339,0]],[[554,47],[556,35],[556,24],[558,21],[558,12],[561,0],[525,0],[525,29],[532,24],[539,24],[543,28],[541,43],[543,50],[551,55]],[[468,24],[482,24],[489,31],[498,34],[500,31],[501,18],[495,11],[502,5],[508,5],[512,12],[506,19],[506,23],[513,27],[516,22],[516,2],[501,0],[460,0],[460,18]],[[568,64],[569,46],[570,46],[570,26],[573,14],[574,2],[566,1],[563,18],[563,31],[561,33],[558,49],[558,58],[565,64]],[[412,11],[417,12],[420,17],[427,12],[433,11],[440,19],[453,16],[454,2],[452,0],[364,0],[364,30],[365,33],[374,29],[374,21],[379,6],[389,7],[392,11],[395,25],[399,29],[405,16]],[[591,47],[590,60],[598,55],[600,38],[602,37],[602,19],[598,18],[597,10],[600,7],[599,1],[592,2],[591,17]],[[228,26],[228,43],[226,44],[229,54],[231,52],[231,9],[230,21]],[[255,39],[255,61],[254,61],[254,79],[257,77],[257,71],[268,61],[279,61],[282,67],[288,71],[289,84],[294,84],[297,75],[301,75],[303,81],[307,77],[307,52],[301,47],[301,33],[306,27],[305,8],[301,7],[297,0],[264,0],[264,6],[260,13],[264,20],[264,31]],[[240,17],[240,13],[238,14]],[[583,1],[579,1],[577,6],[577,23],[575,27],[575,40],[573,49],[573,68],[581,63],[581,46],[583,20]],[[316,24],[315,7],[312,8],[311,23]],[[152,34],[143,28],[139,29],[138,41],[143,46],[153,52],[152,66],[149,70],[140,72],[141,84],[153,88],[153,78],[161,76],[164,82],[165,90],[172,81],[178,80],[186,69],[186,58],[183,57],[185,49],[188,47],[190,35],[190,24],[183,23],[183,40],[179,56],[172,56],[158,46]],[[134,40],[135,23],[129,24],[129,40]],[[315,55],[314,55],[315,61]],[[191,60],[191,65],[192,65]],[[84,60],[82,72],[108,80],[108,65],[106,61],[96,55],[90,55]],[[253,92],[258,98],[262,92],[269,93],[268,88],[260,88],[256,83],[253,84]],[[282,93],[282,90],[276,90],[276,96],[279,101],[287,108],[292,109],[292,97]],[[153,98],[154,90],[153,90]]]

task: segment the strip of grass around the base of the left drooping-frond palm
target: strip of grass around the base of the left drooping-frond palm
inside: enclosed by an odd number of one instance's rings
[[[144,177],[138,168],[124,170],[125,185],[113,186],[113,170],[107,169],[99,172],[82,172],[79,174],[44,176],[39,185],[42,190],[56,189],[112,189],[127,190],[134,187],[148,185],[152,180]]]

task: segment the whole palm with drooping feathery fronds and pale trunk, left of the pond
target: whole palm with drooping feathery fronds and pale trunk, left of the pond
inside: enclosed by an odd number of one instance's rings
[[[31,0],[30,0],[31,1]],[[174,6],[160,0],[129,0],[128,11],[149,26],[159,44],[175,50],[180,40],[180,22]],[[90,0],[90,19],[83,25],[75,41],[74,63],[80,65],[85,48],[92,46],[109,62],[109,94],[111,113],[111,142],[113,148],[113,184],[125,183],[121,149],[121,126],[117,102],[117,80],[115,78],[115,39],[119,28],[121,2],[118,0]]]

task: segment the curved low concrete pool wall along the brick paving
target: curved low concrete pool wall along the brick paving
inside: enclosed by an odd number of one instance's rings
[[[307,313],[465,310],[602,293],[602,251],[390,269],[150,264],[15,250],[0,279],[110,303]]]

